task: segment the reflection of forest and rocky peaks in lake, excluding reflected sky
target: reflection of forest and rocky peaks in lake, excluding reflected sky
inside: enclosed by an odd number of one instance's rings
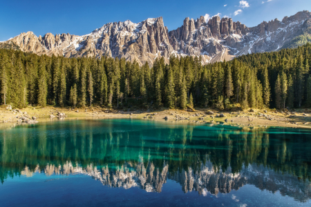
[[[36,173],[88,175],[114,188],[230,193],[245,184],[308,201],[311,132],[102,120],[0,132],[0,179]]]

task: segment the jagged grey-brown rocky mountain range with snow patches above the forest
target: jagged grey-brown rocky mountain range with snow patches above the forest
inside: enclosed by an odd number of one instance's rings
[[[229,60],[254,52],[279,50],[311,27],[311,14],[298,12],[282,21],[274,19],[253,28],[247,28],[232,18],[215,16],[205,21],[187,17],[182,26],[169,30],[162,17],[146,19],[140,23],[107,23],[83,36],[47,33],[37,37],[33,32],[0,43],[0,48],[10,45],[37,55],[62,55],[64,57],[124,57],[150,65],[156,57],[168,63],[171,55],[200,57],[202,64]]]

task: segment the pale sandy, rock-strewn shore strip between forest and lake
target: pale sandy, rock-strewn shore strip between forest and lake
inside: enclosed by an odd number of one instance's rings
[[[57,113],[62,112],[66,117],[57,118]],[[211,114],[213,113],[213,114]],[[219,117],[220,115],[224,117]],[[55,116],[50,119],[50,115]],[[36,121],[59,121],[59,119],[143,119],[155,121],[169,121],[194,124],[223,124],[245,127],[287,127],[287,128],[311,128],[310,110],[295,110],[294,112],[281,112],[276,110],[244,110],[240,112],[226,112],[214,109],[198,109],[194,112],[177,109],[164,110],[108,110],[106,108],[56,108],[47,106],[37,108],[28,106],[22,110],[6,110],[0,108],[0,126],[21,123],[21,117],[36,117]],[[165,119],[167,118],[167,119]],[[30,123],[32,124],[32,123]],[[1,128],[1,127],[0,127]]]

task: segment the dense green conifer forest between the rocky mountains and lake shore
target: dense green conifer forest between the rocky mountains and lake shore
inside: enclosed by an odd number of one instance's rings
[[[0,50],[0,102],[108,108],[311,107],[311,44],[202,65],[171,56],[153,66],[112,57],[48,57]]]

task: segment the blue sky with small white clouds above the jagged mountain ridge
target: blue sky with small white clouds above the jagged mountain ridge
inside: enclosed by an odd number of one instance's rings
[[[311,11],[311,0],[196,0],[196,1],[15,1],[0,3],[0,41],[32,31],[37,36],[53,34],[88,34],[105,23],[125,21],[138,23],[150,17],[163,17],[169,30],[182,25],[185,17],[232,17],[252,27],[270,21]]]

